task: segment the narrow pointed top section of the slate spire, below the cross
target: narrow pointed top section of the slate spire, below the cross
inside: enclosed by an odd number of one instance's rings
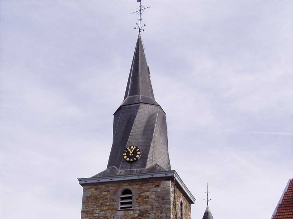
[[[149,67],[144,55],[140,33],[138,34],[124,100],[121,106],[134,103],[159,105],[154,98]]]

